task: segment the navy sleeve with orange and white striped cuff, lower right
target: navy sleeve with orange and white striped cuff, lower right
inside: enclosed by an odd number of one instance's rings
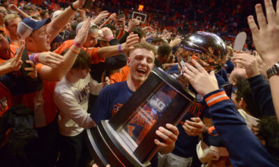
[[[224,90],[204,96],[213,125],[223,139],[232,166],[277,166],[258,138],[246,126]]]

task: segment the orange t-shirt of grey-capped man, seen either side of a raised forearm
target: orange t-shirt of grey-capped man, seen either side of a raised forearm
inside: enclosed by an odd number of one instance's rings
[[[66,40],[65,42],[62,43],[62,45],[60,45],[60,47],[58,47],[53,52],[55,54],[61,54],[64,50],[69,49],[70,46],[72,46],[73,44],[74,44],[74,40]],[[89,56],[91,57],[92,64],[97,64],[105,61],[105,58],[100,58],[100,56],[98,55],[98,49],[100,49],[100,47],[89,47],[89,48],[83,47],[82,49],[84,49],[89,54]]]

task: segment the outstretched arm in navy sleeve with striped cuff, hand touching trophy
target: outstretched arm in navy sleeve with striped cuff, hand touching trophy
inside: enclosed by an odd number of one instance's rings
[[[225,91],[219,90],[214,72],[208,74],[197,61],[192,62],[197,68],[186,63],[183,75],[197,93],[204,96],[213,125],[223,139],[232,166],[277,166],[262,143],[248,129]]]

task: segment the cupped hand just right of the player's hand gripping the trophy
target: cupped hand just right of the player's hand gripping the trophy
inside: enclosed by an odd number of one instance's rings
[[[191,118],[191,120],[192,121],[186,120],[184,125],[182,125],[186,134],[189,136],[197,136],[198,134],[202,134],[204,131],[206,131],[206,126],[200,118]]]

